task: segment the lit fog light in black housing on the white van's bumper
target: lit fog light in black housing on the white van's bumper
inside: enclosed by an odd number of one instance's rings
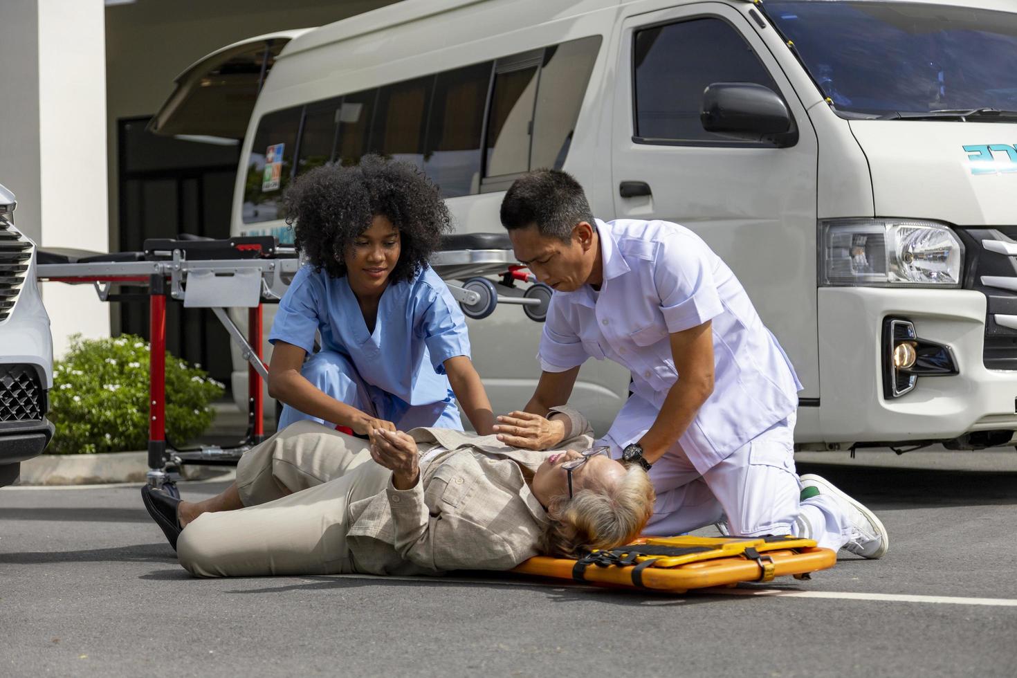
[[[957,362],[949,346],[919,337],[910,320],[884,320],[883,394],[887,399],[913,390],[918,377],[957,373]]]

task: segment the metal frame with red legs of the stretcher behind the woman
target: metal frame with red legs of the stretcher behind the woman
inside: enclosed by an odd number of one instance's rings
[[[245,239],[233,239],[243,240]],[[230,246],[235,244],[233,241],[229,241]],[[264,434],[262,380],[267,379],[268,370],[261,357],[262,305],[278,303],[282,299],[301,261],[292,247],[278,245],[266,247],[272,254],[258,258],[189,259],[186,248],[193,241],[162,242],[172,248],[146,252],[164,257],[162,259],[37,263],[36,273],[40,281],[92,285],[104,302],[141,301],[147,298],[152,346],[148,366],[148,472],[145,478],[149,486],[164,488],[176,494],[176,481],[180,479],[181,466],[235,466],[244,452],[267,437]],[[179,246],[172,246],[173,243]],[[147,242],[145,247],[148,247]],[[254,245],[237,245],[237,249],[245,247],[253,248]],[[258,249],[260,247],[258,245]],[[117,255],[100,257],[115,259]],[[476,291],[448,284],[453,296],[463,305],[484,302],[493,310],[493,306],[500,303],[521,305],[524,308],[536,307],[542,303],[540,299],[524,298],[510,287],[513,280],[531,279],[520,270],[520,266],[515,265],[516,259],[511,249],[443,250],[435,252],[429,263],[442,280],[458,281],[487,275],[502,278],[503,285],[499,287],[504,294],[496,294],[496,297],[488,300],[482,299],[482,295]],[[114,288],[124,286],[141,288],[142,291],[114,292]],[[489,281],[484,289],[488,286],[494,289]],[[182,302],[185,308],[212,310],[247,362],[247,431],[235,446],[202,445],[194,450],[179,450],[167,442],[165,357],[166,304],[169,300]],[[233,322],[227,313],[228,308],[247,308],[246,335]],[[489,310],[486,314],[489,314]]]

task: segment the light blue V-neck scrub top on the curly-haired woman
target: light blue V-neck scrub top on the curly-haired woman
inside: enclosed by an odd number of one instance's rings
[[[448,397],[442,363],[470,356],[463,311],[429,266],[411,281],[388,284],[378,302],[373,333],[367,331],[346,276],[331,278],[324,269],[301,266],[279,302],[268,341],[282,340],[311,354],[317,330],[323,351],[348,357],[366,383],[410,406]]]

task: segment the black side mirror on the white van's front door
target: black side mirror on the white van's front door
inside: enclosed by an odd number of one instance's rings
[[[703,91],[703,129],[745,141],[792,146],[798,140],[787,105],[755,82],[714,82]]]

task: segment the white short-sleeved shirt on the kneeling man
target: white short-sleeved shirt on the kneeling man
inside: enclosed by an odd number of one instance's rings
[[[669,334],[712,320],[713,394],[679,443],[705,473],[797,408],[790,360],[731,269],[689,229],[669,222],[597,220],[604,281],[555,292],[538,359],[548,372],[610,359],[632,372],[632,395],[604,442],[633,443],[680,378]]]

